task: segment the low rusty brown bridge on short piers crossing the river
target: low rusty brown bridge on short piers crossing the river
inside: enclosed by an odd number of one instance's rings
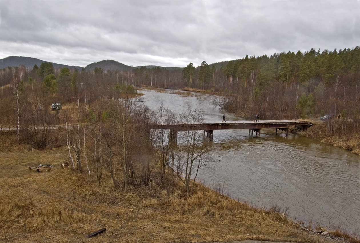
[[[249,134],[256,132],[256,136],[260,136],[260,130],[262,128],[274,128],[276,129],[276,134],[278,130],[286,132],[288,136],[288,130],[290,126],[296,126],[301,130],[307,130],[309,126],[313,124],[309,121],[300,121],[300,120],[267,120],[267,121],[238,121],[238,122],[221,122],[221,123],[199,123],[199,124],[155,124],[152,125],[151,129],[169,129],[170,130],[170,139],[177,142],[177,132],[178,131],[192,131],[192,130],[203,130],[204,135],[207,133],[207,136],[212,141],[214,130],[224,130],[224,129],[249,129]]]

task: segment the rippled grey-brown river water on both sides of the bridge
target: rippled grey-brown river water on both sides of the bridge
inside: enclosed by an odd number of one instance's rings
[[[171,91],[141,91],[144,103],[156,109],[163,103],[176,113],[198,109],[204,122],[242,120],[215,107],[212,95]],[[185,92],[184,92],[185,94]],[[262,129],[261,137],[243,130],[215,130],[212,168],[198,178],[207,185],[258,207],[288,208],[289,216],[324,226],[360,229],[359,156],[315,139]]]

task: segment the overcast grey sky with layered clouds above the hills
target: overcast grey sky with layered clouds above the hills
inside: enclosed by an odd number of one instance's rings
[[[0,59],[199,66],[360,46],[359,0],[0,0]]]

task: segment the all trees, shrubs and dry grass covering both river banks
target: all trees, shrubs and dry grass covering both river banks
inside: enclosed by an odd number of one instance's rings
[[[51,63],[1,69],[1,239],[83,242],[105,227],[89,240],[321,242],[278,207],[257,209],[222,195],[221,186],[195,183],[198,168],[211,160],[201,132],[184,132],[175,145],[168,132],[149,125],[199,123],[201,115],[150,110],[133,100],[140,95],[135,87],[208,90],[223,95],[216,104],[244,118],[326,114],[332,118],[321,123],[323,132],[308,135],[331,142],[359,131],[359,56],[356,47],[246,57],[212,68],[190,63],[183,71],[79,71]],[[55,103],[62,109],[51,111]],[[357,151],[355,142],[344,147]],[[63,161],[69,168],[60,167]],[[39,164],[55,167],[27,170]]]

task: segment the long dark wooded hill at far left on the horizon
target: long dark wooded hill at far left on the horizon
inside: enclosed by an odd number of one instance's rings
[[[3,59],[0,59],[0,68],[6,68],[6,67],[19,67],[21,65],[24,65],[25,67],[28,67],[30,69],[32,69],[35,64],[37,66],[40,67],[41,63],[46,62],[37,58],[32,58],[32,57],[6,57]],[[78,67],[78,66],[69,66],[69,65],[64,65],[64,64],[58,64],[58,63],[53,63],[54,68],[63,68],[63,67],[67,67],[67,68],[77,68],[77,69],[82,69],[82,67]]]

